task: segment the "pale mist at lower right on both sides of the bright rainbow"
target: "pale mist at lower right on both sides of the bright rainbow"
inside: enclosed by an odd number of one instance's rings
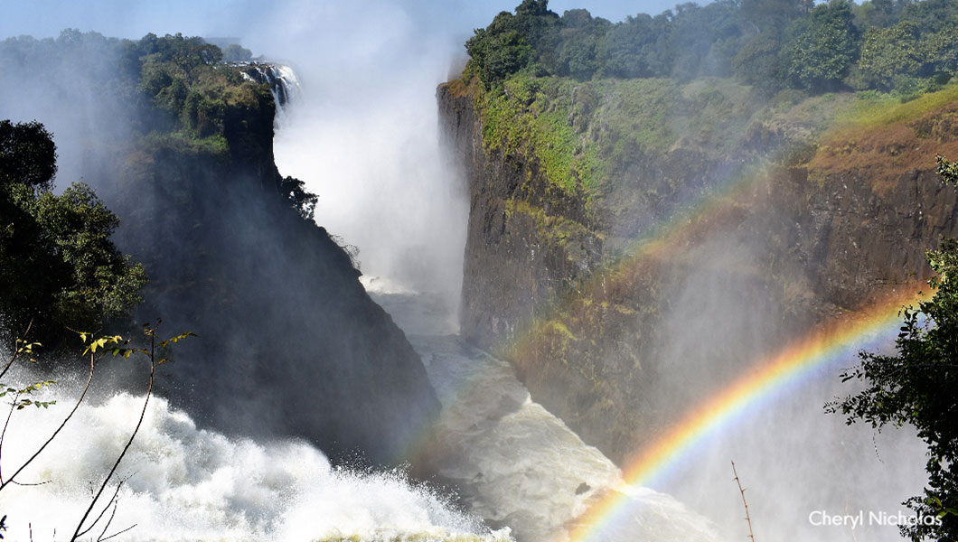
[[[756,371],[794,337],[799,323],[783,318],[788,306],[757,277],[736,270],[759,267],[760,242],[715,234],[694,250],[692,271],[675,269],[667,323],[660,337],[662,364],[651,402],[679,418],[733,381]],[[837,317],[840,319],[840,316]],[[894,337],[868,337],[859,346],[890,352]],[[895,526],[869,524],[869,512],[905,516],[901,502],[924,487],[924,442],[912,427],[846,425],[824,405],[855,393],[840,373],[857,362],[855,348],[721,423],[651,487],[674,495],[719,524],[726,540],[748,534],[734,461],[757,539],[769,541],[900,540]],[[814,525],[810,514],[857,516],[864,525]],[[817,516],[814,518],[818,521]],[[855,527],[853,531],[853,527]]]

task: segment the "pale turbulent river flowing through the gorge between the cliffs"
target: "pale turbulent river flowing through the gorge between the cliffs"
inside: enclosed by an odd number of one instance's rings
[[[406,331],[443,403],[435,454],[468,511],[519,542],[562,540],[566,527],[609,491],[634,503],[608,540],[719,540],[712,523],[650,489],[624,486],[620,470],[534,402],[512,367],[465,343],[437,296],[363,280]]]

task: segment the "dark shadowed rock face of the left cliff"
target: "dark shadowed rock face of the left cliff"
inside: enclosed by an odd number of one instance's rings
[[[149,143],[123,156],[119,242],[152,279],[138,317],[200,337],[164,393],[229,434],[411,459],[438,400],[350,256],[293,207],[273,163],[271,100],[226,124],[228,159]]]

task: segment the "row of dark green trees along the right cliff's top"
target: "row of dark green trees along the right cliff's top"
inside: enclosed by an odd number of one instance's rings
[[[735,77],[784,88],[923,93],[958,68],[954,0],[717,0],[611,23],[523,0],[466,44],[467,77],[518,72],[593,78]]]

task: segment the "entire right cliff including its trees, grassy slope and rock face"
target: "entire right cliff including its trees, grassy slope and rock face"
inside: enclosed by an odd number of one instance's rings
[[[754,322],[766,344],[708,352],[720,385],[723,363],[913,282],[927,271],[901,237],[954,227],[922,181],[936,151],[958,154],[956,15],[938,0],[500,13],[441,92],[478,175],[466,284],[483,290],[464,290],[464,333],[510,345],[534,395],[621,458],[670,416],[644,386],[681,361],[675,292],[724,284],[730,303],[775,307]]]

